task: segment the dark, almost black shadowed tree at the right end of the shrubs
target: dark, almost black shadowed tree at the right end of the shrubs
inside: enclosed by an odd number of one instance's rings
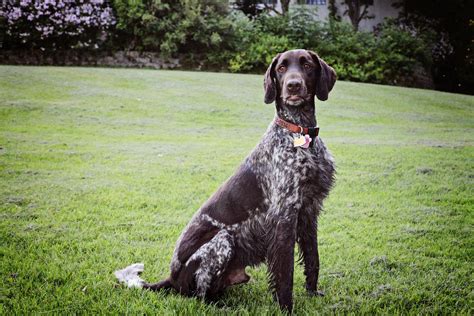
[[[474,94],[474,2],[402,0],[399,22],[422,36],[435,31],[433,76],[437,89]]]

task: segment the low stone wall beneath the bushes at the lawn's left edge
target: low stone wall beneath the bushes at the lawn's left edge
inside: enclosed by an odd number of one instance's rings
[[[57,51],[47,53],[41,50],[8,51],[0,50],[0,64],[7,65],[59,65],[59,66],[109,66],[154,69],[180,68],[179,59],[160,58],[158,53],[119,52],[78,52]]]

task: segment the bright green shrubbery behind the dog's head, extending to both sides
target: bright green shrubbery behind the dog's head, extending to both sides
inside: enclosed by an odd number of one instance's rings
[[[428,36],[419,37],[387,20],[377,33],[357,32],[351,24],[320,23],[315,12],[296,9],[288,16],[236,16],[240,45],[230,60],[233,72],[263,71],[273,56],[291,48],[318,52],[342,80],[397,83],[418,66],[431,64]]]

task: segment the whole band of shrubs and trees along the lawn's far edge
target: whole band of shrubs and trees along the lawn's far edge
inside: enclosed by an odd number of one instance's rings
[[[154,51],[179,57],[189,69],[250,73],[278,52],[305,48],[319,52],[342,80],[407,84],[424,69],[439,89],[474,93],[472,1],[400,1],[400,17],[371,32],[358,23],[371,17],[372,0],[344,0],[340,8],[329,1],[325,22],[315,20],[317,6],[282,1],[279,12],[260,2],[5,1],[0,38],[13,50]]]

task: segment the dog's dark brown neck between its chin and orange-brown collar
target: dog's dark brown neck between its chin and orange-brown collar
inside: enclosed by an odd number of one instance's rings
[[[279,118],[305,127],[317,125],[314,98],[298,106],[284,104],[281,98],[276,100],[276,114]]]

